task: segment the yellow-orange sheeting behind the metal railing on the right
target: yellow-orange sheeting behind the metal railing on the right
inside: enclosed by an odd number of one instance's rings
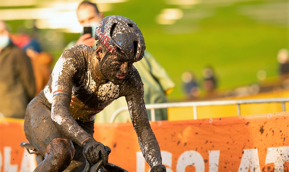
[[[266,98],[286,98],[289,97],[289,90],[278,90],[273,92],[259,93],[245,97],[227,97],[218,100],[228,99],[266,99]],[[289,111],[289,103],[285,103],[285,108]],[[282,111],[281,103],[254,103],[240,105],[241,115],[264,114]],[[237,116],[237,105],[222,106],[200,106],[197,107],[198,119],[220,118],[228,116]],[[172,107],[168,108],[168,120],[192,120],[194,113],[192,107]]]

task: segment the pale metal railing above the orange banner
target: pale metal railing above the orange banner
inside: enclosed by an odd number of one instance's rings
[[[178,102],[178,103],[158,103],[147,104],[145,107],[151,110],[151,120],[155,121],[155,109],[163,109],[168,107],[192,107],[194,119],[197,119],[197,107],[198,106],[215,106],[215,105],[237,105],[237,114],[240,116],[241,104],[251,103],[281,103],[282,111],[286,111],[285,102],[289,102],[289,98],[273,98],[273,99],[245,99],[245,100],[217,100],[217,101],[194,101],[194,102]],[[127,106],[120,107],[114,111],[110,118],[110,123],[114,122],[114,119],[118,114],[128,110]]]

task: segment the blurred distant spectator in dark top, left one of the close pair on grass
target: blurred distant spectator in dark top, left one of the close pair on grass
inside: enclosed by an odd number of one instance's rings
[[[198,86],[196,77],[192,72],[186,71],[181,75],[181,80],[183,81],[184,89],[188,95],[188,99],[194,99],[199,97],[200,88]]]

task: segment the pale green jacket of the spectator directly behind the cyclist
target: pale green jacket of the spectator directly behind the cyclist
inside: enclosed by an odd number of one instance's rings
[[[134,67],[140,73],[142,82],[144,84],[144,103],[166,103],[165,91],[175,87],[174,82],[166,73],[166,70],[158,63],[158,61],[147,51],[144,53],[142,60],[134,63]],[[105,107],[103,111],[96,115],[95,122],[109,122],[112,113],[119,107],[127,106],[125,97],[120,97],[113,101],[110,105]],[[148,116],[151,120],[150,111]],[[156,120],[167,120],[166,109],[155,110]],[[114,122],[130,121],[129,112],[124,111],[119,114]]]

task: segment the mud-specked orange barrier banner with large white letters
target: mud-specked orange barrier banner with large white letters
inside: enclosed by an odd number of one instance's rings
[[[157,121],[151,127],[168,172],[288,172],[289,112]],[[26,172],[34,156],[23,150],[23,121],[0,122],[0,171]],[[131,172],[147,172],[131,123],[95,124],[94,137],[108,145],[109,162]]]

